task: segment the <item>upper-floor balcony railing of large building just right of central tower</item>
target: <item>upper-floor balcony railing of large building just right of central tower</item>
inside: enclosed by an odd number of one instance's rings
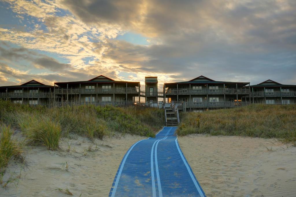
[[[167,89],[166,95],[221,95],[250,94],[249,88],[219,88],[219,89]]]

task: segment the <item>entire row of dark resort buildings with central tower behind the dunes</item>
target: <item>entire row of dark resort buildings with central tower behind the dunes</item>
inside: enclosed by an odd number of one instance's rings
[[[142,98],[141,98],[142,97]],[[175,106],[179,110],[209,110],[250,104],[296,104],[296,85],[280,84],[270,79],[249,82],[215,81],[199,76],[186,82],[163,84],[158,91],[157,76],[140,82],[115,81],[100,75],[88,81],[55,82],[54,86],[31,80],[21,85],[0,87],[0,99],[29,105],[145,105]],[[142,99],[142,100],[141,100]],[[159,105],[163,100],[165,105]],[[173,113],[173,112],[168,112]]]

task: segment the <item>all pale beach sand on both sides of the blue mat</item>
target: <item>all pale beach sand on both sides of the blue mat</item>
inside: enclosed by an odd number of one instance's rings
[[[73,196],[108,196],[121,159],[141,139],[146,137],[91,142],[76,136],[62,139],[58,151],[27,147],[25,167],[10,163],[3,180],[22,169],[20,179],[1,187],[0,196],[69,196],[58,188],[68,188]],[[296,148],[291,144],[196,134],[178,141],[207,196],[295,196]]]

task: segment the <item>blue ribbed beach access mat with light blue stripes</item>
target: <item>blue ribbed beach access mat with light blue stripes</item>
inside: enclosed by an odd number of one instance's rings
[[[174,135],[176,128],[164,127],[155,138],[131,146],[109,196],[205,196]]]

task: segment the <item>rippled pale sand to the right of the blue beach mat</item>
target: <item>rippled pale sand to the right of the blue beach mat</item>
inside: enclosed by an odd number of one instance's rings
[[[196,134],[178,141],[209,197],[296,195],[294,146],[273,139]]]

